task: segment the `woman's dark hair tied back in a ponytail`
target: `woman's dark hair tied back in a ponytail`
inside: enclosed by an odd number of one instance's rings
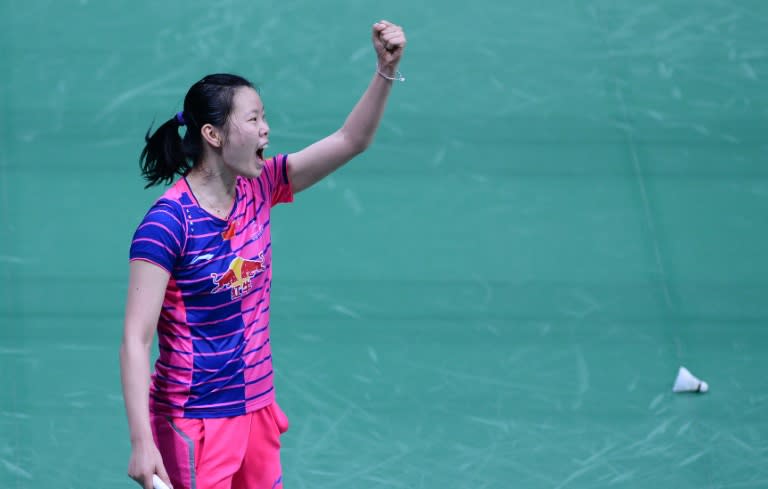
[[[200,128],[205,124],[227,126],[235,89],[239,87],[253,85],[237,75],[208,75],[189,88],[183,112],[168,119],[151,136],[149,127],[139,157],[141,174],[148,182],[144,188],[171,183],[175,175],[185,175],[192,169],[203,152]],[[179,136],[182,125],[187,126],[184,139]]]

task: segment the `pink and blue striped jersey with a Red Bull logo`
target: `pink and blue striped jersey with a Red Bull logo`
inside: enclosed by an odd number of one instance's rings
[[[287,157],[278,155],[259,178],[237,178],[227,220],[203,210],[185,178],[147,212],[130,259],[171,275],[157,324],[153,413],[229,417],[273,402],[269,218],[272,206],[292,200]]]

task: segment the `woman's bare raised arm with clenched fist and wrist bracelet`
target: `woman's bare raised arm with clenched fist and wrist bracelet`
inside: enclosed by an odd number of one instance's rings
[[[377,73],[374,73],[368,89],[347,116],[344,125],[330,136],[288,156],[288,180],[294,192],[322,180],[365,151],[373,141],[406,39],[403,29],[388,21],[374,24],[372,37]]]

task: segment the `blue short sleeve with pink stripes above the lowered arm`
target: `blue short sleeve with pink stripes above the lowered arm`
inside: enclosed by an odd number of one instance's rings
[[[183,220],[184,214],[177,202],[158,200],[136,228],[130,261],[148,261],[172,273],[185,241]]]

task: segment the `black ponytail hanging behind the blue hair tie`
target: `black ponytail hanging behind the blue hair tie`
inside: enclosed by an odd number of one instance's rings
[[[179,136],[179,127],[183,122],[179,113],[158,127],[151,136],[152,127],[147,130],[144,136],[146,145],[139,157],[141,175],[147,180],[144,188],[171,183],[175,175],[184,175],[192,168]]]

